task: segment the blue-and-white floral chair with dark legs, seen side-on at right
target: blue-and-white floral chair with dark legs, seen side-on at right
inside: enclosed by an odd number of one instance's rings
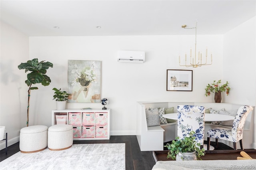
[[[228,140],[233,142],[234,149],[236,150],[236,142],[240,141],[240,147],[242,146],[244,123],[247,115],[253,110],[252,106],[241,106],[236,114],[232,128],[217,127],[208,130],[207,132],[207,150],[210,148],[210,138],[215,138],[215,147],[218,147],[218,139]]]

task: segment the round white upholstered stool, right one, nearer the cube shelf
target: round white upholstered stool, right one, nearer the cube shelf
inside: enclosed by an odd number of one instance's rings
[[[71,125],[53,125],[48,128],[49,150],[68,149],[73,144],[73,127]]]

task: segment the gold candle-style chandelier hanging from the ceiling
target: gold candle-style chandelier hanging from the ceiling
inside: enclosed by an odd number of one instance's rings
[[[196,29],[197,28],[197,21],[196,27],[193,28],[186,28],[186,25],[181,26],[184,29]],[[185,53],[185,65],[186,67],[201,67],[202,65],[211,65],[212,64],[212,54],[211,54],[211,63],[207,64],[207,47],[206,47],[206,55],[205,55],[205,63],[202,64],[202,52],[198,51],[198,57],[196,56],[196,42],[195,42],[195,57],[192,58],[192,48],[190,48],[190,64],[187,64],[187,54]],[[197,59],[198,58],[198,59]],[[179,64],[180,64],[180,56],[179,56]]]

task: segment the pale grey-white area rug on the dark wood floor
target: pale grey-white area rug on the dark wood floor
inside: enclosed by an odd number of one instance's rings
[[[125,144],[73,144],[71,148],[18,152],[0,162],[1,170],[125,170]]]

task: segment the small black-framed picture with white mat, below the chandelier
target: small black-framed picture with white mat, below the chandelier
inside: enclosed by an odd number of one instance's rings
[[[192,70],[167,70],[166,91],[192,91]]]

